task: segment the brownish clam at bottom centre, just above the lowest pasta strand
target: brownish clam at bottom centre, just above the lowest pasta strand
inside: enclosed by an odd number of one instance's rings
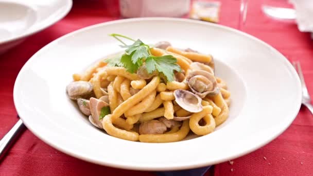
[[[139,134],[163,134],[167,130],[159,120],[145,121],[139,126]]]

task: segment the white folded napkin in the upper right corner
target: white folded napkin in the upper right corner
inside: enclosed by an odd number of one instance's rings
[[[301,32],[313,32],[313,2],[312,0],[289,0],[295,8],[298,28]]]

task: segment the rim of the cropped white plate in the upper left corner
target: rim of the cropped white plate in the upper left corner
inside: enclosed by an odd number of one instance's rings
[[[4,2],[4,3],[11,3],[11,4],[21,4],[21,5],[24,5],[24,3],[20,3],[20,2],[15,2],[15,1],[0,1],[0,2]],[[32,30],[29,30],[29,31],[26,31],[26,32],[23,32],[21,34],[18,34],[16,36],[13,36],[11,38],[8,38],[8,39],[5,39],[5,40],[0,40],[0,45],[1,44],[6,44],[6,43],[9,43],[9,42],[14,42],[14,41],[17,41],[17,40],[20,40],[20,39],[23,39],[23,38],[26,38],[26,37],[29,37],[31,36],[32,34],[34,33],[38,33],[54,24],[56,24],[58,21],[62,20],[68,13],[69,11],[71,11],[72,7],[73,7],[73,0],[62,0],[61,2],[64,2],[64,4],[66,6],[66,9],[60,13],[57,17],[55,17],[53,20],[50,20],[49,23],[45,23],[46,20],[43,20],[42,22],[40,23],[43,23],[44,25],[42,25],[41,27],[39,28],[34,28]],[[27,6],[27,5],[26,5]],[[29,6],[27,6],[29,7]]]

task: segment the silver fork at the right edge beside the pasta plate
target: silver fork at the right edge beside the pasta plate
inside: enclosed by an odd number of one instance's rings
[[[302,84],[302,104],[305,105],[311,112],[311,114],[313,114],[313,106],[310,103],[311,102],[311,97],[309,95],[309,93],[307,92],[306,89],[306,85],[304,82],[304,78],[303,78],[303,74],[302,74],[302,69],[301,69],[301,65],[299,61],[294,61],[292,62],[293,67],[295,69],[295,71],[297,71],[299,78],[301,80],[301,84]]]

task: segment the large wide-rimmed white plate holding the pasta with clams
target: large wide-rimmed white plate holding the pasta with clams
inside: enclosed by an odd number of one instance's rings
[[[66,97],[65,86],[73,73],[120,50],[108,36],[113,32],[212,54],[216,74],[232,94],[229,119],[209,135],[166,144],[130,142],[97,130]],[[125,169],[175,170],[231,160],[269,143],[297,115],[300,87],[287,59],[246,33],[200,21],[143,18],[86,27],[46,45],[16,78],[14,103],[29,130],[69,155]]]

